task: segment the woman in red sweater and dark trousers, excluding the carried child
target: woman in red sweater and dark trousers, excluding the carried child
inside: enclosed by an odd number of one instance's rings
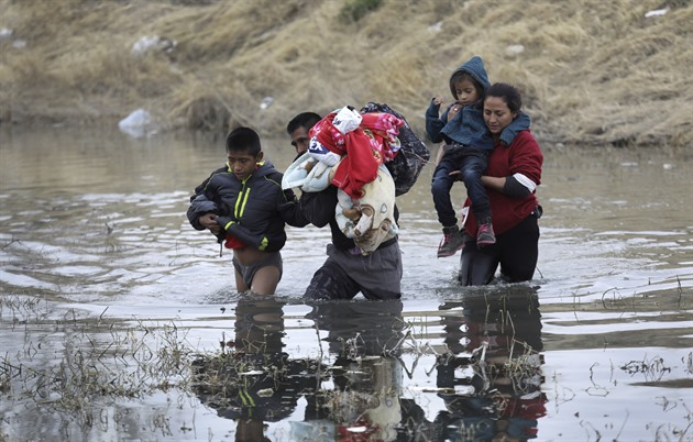
[[[520,93],[510,85],[497,82],[486,89],[483,118],[494,147],[481,183],[493,210],[496,243],[477,246],[473,237],[479,226],[472,210],[465,223],[472,240],[462,251],[458,277],[464,286],[490,284],[498,265],[501,278],[508,283],[527,281],[535,274],[541,217],[535,192],[541,183],[543,154],[529,130],[517,133],[507,145],[503,143],[505,130],[522,118],[521,106]],[[472,203],[468,198],[464,206]]]

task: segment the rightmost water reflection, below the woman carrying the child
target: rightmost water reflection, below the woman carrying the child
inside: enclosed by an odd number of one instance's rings
[[[437,385],[447,410],[436,417],[442,432],[437,440],[537,438],[547,398],[536,290],[510,286],[503,295],[447,301],[440,310],[448,313],[441,321],[450,353],[438,357]]]

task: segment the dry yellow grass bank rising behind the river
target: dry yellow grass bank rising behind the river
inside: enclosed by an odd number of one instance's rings
[[[0,124],[113,124],[145,108],[168,128],[278,135],[298,111],[384,101],[422,128],[479,54],[547,142],[693,144],[689,0],[382,0],[343,20],[358,3],[377,0],[0,0]],[[177,45],[135,57],[144,35]]]

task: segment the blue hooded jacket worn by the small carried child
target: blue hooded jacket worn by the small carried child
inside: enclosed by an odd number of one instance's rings
[[[450,75],[450,79],[459,73],[466,71],[482,86],[484,92],[491,87],[488,75],[484,68],[484,62],[477,55],[470,58],[462,66],[457,68]],[[454,85],[450,84],[450,92],[453,101],[458,97]],[[452,104],[450,104],[451,107]],[[481,100],[465,106],[461,112],[448,121],[448,112],[450,107],[446,109],[442,117],[438,117],[440,104],[436,104],[433,100],[426,110],[426,133],[433,143],[444,141],[447,144],[459,143],[465,146],[476,147],[483,151],[493,150],[493,140],[486,128],[483,115],[483,103]],[[529,129],[530,120],[525,113],[521,113],[513,120],[513,122],[503,130],[501,141],[506,145],[510,145],[515,136],[520,132]]]

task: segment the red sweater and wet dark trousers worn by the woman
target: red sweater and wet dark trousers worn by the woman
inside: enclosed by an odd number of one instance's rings
[[[520,132],[509,146],[501,142],[496,144],[488,156],[486,175],[525,183],[531,191],[517,197],[486,189],[493,211],[496,243],[481,250],[473,241],[465,243],[459,275],[463,285],[491,283],[498,265],[502,277],[508,281],[530,280],[534,277],[539,242],[537,219],[541,216],[541,207],[534,188],[541,183],[542,164],[543,154],[529,131]],[[471,200],[468,198],[464,206],[470,205]],[[468,235],[474,239],[477,223],[472,211],[469,217],[465,229]]]

